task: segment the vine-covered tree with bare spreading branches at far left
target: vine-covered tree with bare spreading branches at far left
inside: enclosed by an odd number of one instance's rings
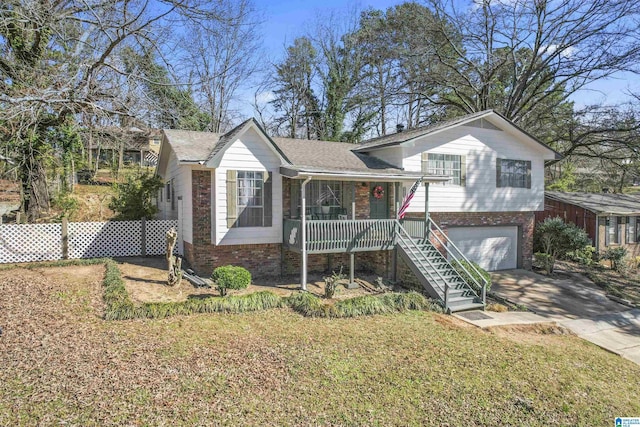
[[[8,0],[0,4],[0,132],[20,164],[30,220],[49,208],[50,131],[82,112],[134,115],[125,47],[163,51],[190,22],[229,20],[231,0]]]

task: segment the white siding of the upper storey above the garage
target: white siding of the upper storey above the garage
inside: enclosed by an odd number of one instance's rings
[[[402,167],[422,170],[422,153],[466,156],[465,186],[429,186],[432,212],[525,212],[544,210],[544,147],[518,139],[507,131],[460,126],[417,139],[397,147],[402,150]],[[376,154],[375,152],[371,154]],[[496,161],[499,158],[531,162],[531,188],[497,187]],[[404,192],[410,183],[404,184]],[[424,211],[424,187],[416,193],[409,212]]]

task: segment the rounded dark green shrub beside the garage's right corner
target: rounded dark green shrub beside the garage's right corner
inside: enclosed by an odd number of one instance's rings
[[[582,249],[591,243],[587,233],[574,224],[565,223],[562,218],[547,218],[538,223],[533,234],[534,250],[549,255],[545,261],[547,274],[553,273],[556,260],[571,251]]]

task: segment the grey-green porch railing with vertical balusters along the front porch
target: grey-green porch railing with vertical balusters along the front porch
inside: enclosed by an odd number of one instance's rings
[[[288,248],[302,250],[301,225],[300,220],[284,221],[283,242]],[[393,219],[307,221],[307,253],[393,249],[395,227]]]

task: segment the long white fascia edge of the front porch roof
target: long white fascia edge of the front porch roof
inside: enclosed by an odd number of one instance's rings
[[[421,172],[365,172],[349,170],[317,170],[313,168],[302,168],[295,166],[281,166],[280,173],[291,179],[319,178],[324,180],[338,181],[376,181],[376,182],[398,182],[410,181],[422,177],[423,182],[443,182],[451,177],[442,175],[423,175]]]

